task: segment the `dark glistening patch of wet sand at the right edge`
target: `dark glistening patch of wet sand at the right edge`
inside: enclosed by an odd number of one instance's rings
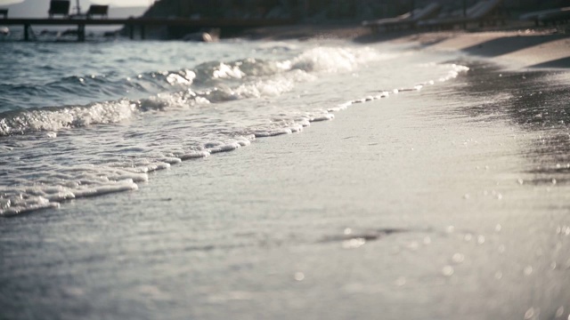
[[[520,156],[528,165],[520,173],[530,177],[519,183],[565,183],[570,181],[567,76],[563,71],[513,72],[486,62],[471,62],[468,76],[458,82],[458,90],[451,94],[472,102],[460,105],[454,114],[468,116],[471,121],[507,121],[525,132],[527,148]]]

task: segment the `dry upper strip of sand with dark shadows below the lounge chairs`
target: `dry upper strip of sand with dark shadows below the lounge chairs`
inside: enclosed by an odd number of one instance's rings
[[[570,27],[534,28],[517,22],[511,27],[482,30],[400,31],[371,34],[354,24],[297,25],[256,28],[242,34],[252,40],[346,39],[360,44],[418,44],[424,50],[464,52],[512,69],[570,68]]]

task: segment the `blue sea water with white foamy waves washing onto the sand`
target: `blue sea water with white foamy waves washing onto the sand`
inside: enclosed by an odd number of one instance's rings
[[[334,41],[2,46],[4,216],[135,190],[149,172],[299,132],[354,103],[468,69]]]

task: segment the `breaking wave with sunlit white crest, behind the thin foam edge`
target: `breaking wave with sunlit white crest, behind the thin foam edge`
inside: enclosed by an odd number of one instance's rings
[[[350,71],[359,63],[378,58],[377,53],[368,50],[355,52],[320,47],[303,52],[292,60],[212,61],[193,70],[151,72],[126,79],[117,79],[117,76],[68,76],[42,87],[3,84],[4,88],[0,90],[20,91],[26,95],[69,97],[73,93],[89,99],[104,92],[118,100],[75,106],[19,108],[0,113],[0,136],[113,124],[149,110],[164,111],[279,96],[292,90],[297,83],[314,80],[315,73]],[[132,89],[147,96],[148,92],[154,94],[137,100],[124,98],[125,92]]]

